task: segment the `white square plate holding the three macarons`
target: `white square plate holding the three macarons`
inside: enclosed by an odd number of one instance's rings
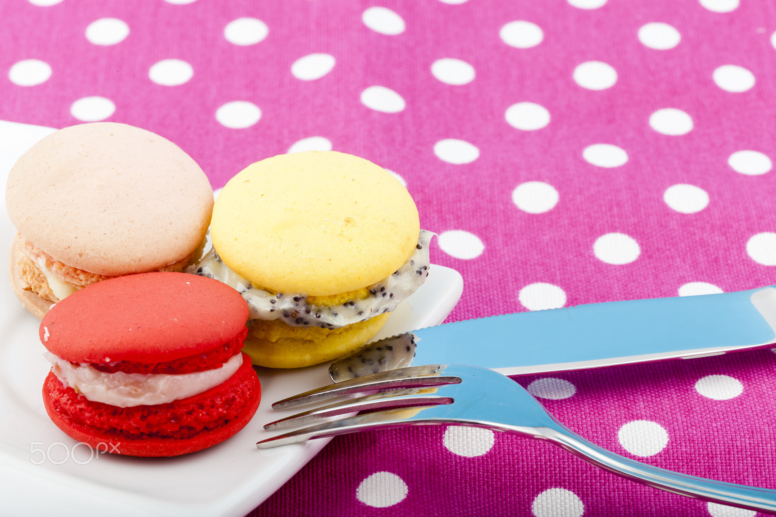
[[[0,121],[0,179],[50,128]],[[15,230],[0,213],[0,271],[8,270]],[[34,200],[31,200],[34,202]],[[377,338],[441,323],[462,292],[453,269],[430,268],[426,283],[402,302]],[[327,365],[262,369],[262,404],[233,438],[176,458],[97,454],[61,432],[43,408],[49,370],[38,321],[23,310],[8,283],[0,288],[0,512],[4,515],[234,515],[242,517],[296,474],[328,442],[318,439],[256,449],[272,435],[262,425],[296,412],[271,404],[331,381]]]

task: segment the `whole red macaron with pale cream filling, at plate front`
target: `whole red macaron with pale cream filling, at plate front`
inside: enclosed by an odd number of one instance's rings
[[[240,294],[203,276],[151,272],[85,287],[40,324],[53,354],[46,410],[71,438],[129,456],[223,442],[261,399],[241,353],[247,320]]]

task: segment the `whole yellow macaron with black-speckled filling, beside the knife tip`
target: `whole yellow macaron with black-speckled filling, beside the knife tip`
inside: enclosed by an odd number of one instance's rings
[[[223,187],[210,226],[219,258],[199,272],[226,279],[229,274],[218,272],[223,261],[251,284],[235,284],[249,306],[250,290],[277,293],[271,301],[282,321],[248,321],[244,352],[253,363],[310,366],[376,335],[392,308],[361,310],[360,304],[392,301],[381,282],[398,276],[421,248],[420,231],[414,201],[385,169],[335,151],[282,154],[248,166]],[[424,278],[424,270],[407,275],[422,282],[421,273]],[[293,307],[280,307],[284,296]],[[317,319],[346,311],[352,313],[347,324]]]

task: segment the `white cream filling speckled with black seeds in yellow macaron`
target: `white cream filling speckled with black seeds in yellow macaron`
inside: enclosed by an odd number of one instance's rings
[[[248,302],[251,311],[248,319],[281,320],[293,327],[342,328],[394,311],[401,300],[424,283],[430,262],[428,244],[433,236],[433,232],[421,230],[417,245],[404,265],[378,283],[352,293],[343,293],[351,295],[348,297],[342,294],[308,297],[305,294],[272,293],[232,271],[214,248],[187,271],[234,287]],[[327,304],[327,301],[334,303]]]

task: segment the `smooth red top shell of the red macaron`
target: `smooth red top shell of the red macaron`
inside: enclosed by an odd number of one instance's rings
[[[54,305],[40,341],[73,363],[161,363],[230,341],[248,304],[224,283],[178,272],[103,280]]]

